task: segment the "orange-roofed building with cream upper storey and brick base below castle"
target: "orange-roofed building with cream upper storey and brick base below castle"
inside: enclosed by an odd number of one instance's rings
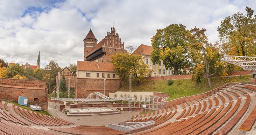
[[[114,92],[121,85],[119,76],[111,63],[77,61],[75,97],[87,97],[92,92]]]

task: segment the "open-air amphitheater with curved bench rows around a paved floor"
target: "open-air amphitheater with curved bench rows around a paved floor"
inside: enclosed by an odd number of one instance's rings
[[[166,101],[164,107],[145,114],[118,111],[75,117],[56,111],[55,103],[50,101],[48,112],[52,116],[2,100],[0,135],[256,135],[255,90],[256,85],[229,83],[204,94]],[[86,111],[109,109],[116,108]]]

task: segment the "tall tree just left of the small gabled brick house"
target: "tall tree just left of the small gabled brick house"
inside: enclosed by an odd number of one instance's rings
[[[45,72],[43,74],[43,80],[45,80],[49,87],[49,94],[52,91],[51,85],[53,88],[56,86],[56,80],[55,77],[58,75],[58,72],[60,72],[62,68],[59,67],[59,64],[56,60],[51,60],[45,67]]]

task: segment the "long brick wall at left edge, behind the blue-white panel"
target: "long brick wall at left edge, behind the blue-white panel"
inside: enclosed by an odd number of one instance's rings
[[[0,99],[17,102],[19,96],[28,98],[28,106],[37,104],[42,110],[48,110],[48,89],[44,81],[0,78]]]

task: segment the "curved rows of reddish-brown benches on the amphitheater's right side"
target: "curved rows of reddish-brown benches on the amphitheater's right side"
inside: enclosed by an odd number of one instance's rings
[[[233,86],[230,86],[230,89],[231,87],[233,88]],[[194,99],[193,101],[196,103],[193,103],[192,100],[189,102],[180,103],[184,109],[179,116],[176,116],[176,118],[174,117],[176,120],[180,121],[175,121],[173,123],[169,122],[164,125],[160,125],[157,128],[138,133],[137,135],[209,135],[213,132],[216,132],[216,135],[227,134],[234,127],[234,125],[238,123],[244,113],[246,113],[246,110],[249,108],[251,102],[251,96],[248,94],[248,91],[241,89],[230,89],[224,89],[223,91],[214,93],[212,92],[212,95],[209,95],[209,97],[204,96],[204,99],[199,98],[200,101]],[[245,103],[241,102],[241,94],[238,94],[238,92],[243,95],[246,94]],[[204,102],[204,105],[202,105],[201,102]],[[194,104],[193,109],[191,109],[192,106],[189,103]],[[185,105],[190,108],[189,111]],[[174,107],[175,106],[176,105],[174,105]],[[207,110],[209,109],[209,111],[207,111],[206,108]],[[241,109],[239,110],[239,108]],[[202,112],[202,114],[197,114],[199,112]],[[242,130],[246,130],[245,127],[248,125],[251,127],[256,121],[256,113],[253,112],[256,112],[256,107],[248,117],[248,120],[244,122],[245,124],[241,126],[241,128],[244,128]],[[224,123],[226,124],[219,129]]]

